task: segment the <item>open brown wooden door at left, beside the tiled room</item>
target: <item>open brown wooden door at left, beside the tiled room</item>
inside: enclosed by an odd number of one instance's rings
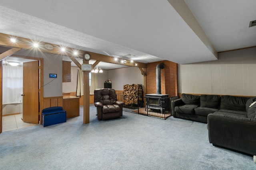
[[[23,121],[39,123],[39,61],[23,63]]]

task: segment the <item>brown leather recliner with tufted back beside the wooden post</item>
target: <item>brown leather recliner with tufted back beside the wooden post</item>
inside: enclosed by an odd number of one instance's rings
[[[98,119],[114,119],[123,115],[124,102],[117,101],[116,91],[112,88],[94,90],[94,106]]]

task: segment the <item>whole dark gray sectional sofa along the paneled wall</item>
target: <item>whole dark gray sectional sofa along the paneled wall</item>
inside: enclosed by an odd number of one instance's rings
[[[212,145],[256,155],[256,97],[182,94],[171,107],[174,117],[208,123]]]

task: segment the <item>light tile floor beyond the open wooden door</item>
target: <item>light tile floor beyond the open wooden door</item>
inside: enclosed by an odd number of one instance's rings
[[[2,126],[2,131],[10,131],[10,130],[14,130],[14,129],[19,129],[19,128],[23,128],[23,127],[29,127],[29,126],[34,126],[37,124],[33,124],[33,123],[26,123],[23,122],[20,114],[18,115],[10,115],[10,116],[3,116],[2,117],[2,122],[3,122],[3,126]]]

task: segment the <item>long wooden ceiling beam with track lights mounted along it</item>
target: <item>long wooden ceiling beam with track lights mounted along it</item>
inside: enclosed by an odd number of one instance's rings
[[[12,43],[10,41],[10,38],[16,38],[17,39],[16,43]],[[102,55],[102,54],[98,54],[98,53],[92,53],[90,51],[83,51],[83,50],[66,47],[66,51],[62,52],[60,45],[50,44],[50,43],[46,43],[46,42],[42,42],[42,41],[36,41],[36,43],[38,43],[38,48],[36,48],[33,46],[33,42],[35,42],[35,40],[0,33],[0,46],[37,50],[37,51],[42,51],[42,52],[46,52],[46,53],[64,55],[64,56],[68,56],[68,57],[72,56],[74,58],[74,59],[70,58],[72,61],[76,60],[75,58],[83,59],[84,53],[90,53],[92,60],[102,61],[105,63],[113,63],[113,64],[121,64],[121,65],[126,65],[126,66],[135,66],[135,67],[146,68],[145,63],[135,62],[137,64],[137,65],[135,65],[135,63],[131,63],[129,60],[127,60],[127,63],[121,63],[120,61],[114,61],[114,58],[111,56]],[[46,47],[45,47],[46,44],[52,45],[52,48],[46,49]],[[73,51],[77,51],[78,55],[74,55]],[[76,61],[73,61],[73,62],[78,66]],[[78,67],[80,68],[81,66],[78,66]]]

